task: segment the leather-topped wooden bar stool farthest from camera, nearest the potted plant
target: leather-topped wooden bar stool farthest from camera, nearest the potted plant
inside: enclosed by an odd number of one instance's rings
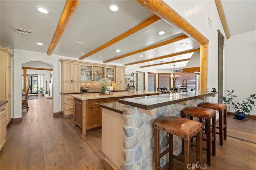
[[[220,117],[219,117],[219,127],[216,127],[219,129],[219,132],[216,132],[216,134],[220,135],[220,145],[223,145],[223,138],[224,140],[227,140],[227,105],[224,105],[222,103],[200,103],[198,107],[204,107],[204,108],[210,108],[216,111],[219,111]]]

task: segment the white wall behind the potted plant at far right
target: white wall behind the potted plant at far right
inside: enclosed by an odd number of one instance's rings
[[[256,93],[256,30],[231,36],[226,40],[224,89],[234,90],[236,101],[241,102]],[[225,91],[225,94],[227,92]],[[246,100],[244,100],[246,101]],[[255,100],[254,100],[255,101]],[[232,108],[228,111],[234,112]],[[253,107],[252,115],[256,115]]]

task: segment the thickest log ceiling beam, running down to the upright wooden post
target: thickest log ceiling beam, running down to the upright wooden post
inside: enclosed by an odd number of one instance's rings
[[[190,36],[201,45],[206,45],[209,40],[202,35],[196,28],[191,26],[184,18],[175,12],[170,6],[165,4],[162,0],[135,0],[138,4],[144,6],[147,10],[156,14],[162,20],[180,29],[184,34]]]

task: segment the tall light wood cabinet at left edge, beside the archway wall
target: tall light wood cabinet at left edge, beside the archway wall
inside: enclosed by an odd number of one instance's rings
[[[12,51],[8,47],[0,47],[0,100],[8,101],[6,104],[6,126],[11,121],[11,57]]]

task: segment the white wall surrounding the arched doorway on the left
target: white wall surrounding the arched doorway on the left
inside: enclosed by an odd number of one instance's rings
[[[25,51],[20,49],[14,49],[14,56],[13,58],[13,83],[12,83],[12,98],[13,98],[13,109],[12,109],[12,117],[13,118],[20,118],[22,117],[22,63],[26,63],[29,61],[41,61],[48,63],[53,66],[53,83],[54,83],[54,94],[53,94],[53,112],[58,112],[60,105],[59,105],[59,80],[58,77],[59,73],[59,59],[58,55],[50,55],[48,56],[46,53],[38,53],[34,51]],[[14,95],[20,94],[20,95]]]

